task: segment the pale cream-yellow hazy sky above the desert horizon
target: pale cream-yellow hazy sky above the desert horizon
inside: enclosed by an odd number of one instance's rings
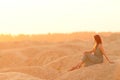
[[[119,31],[120,0],[0,0],[0,33]]]

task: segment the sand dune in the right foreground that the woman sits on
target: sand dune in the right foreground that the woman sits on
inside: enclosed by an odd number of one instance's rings
[[[56,80],[120,80],[120,63],[98,64],[66,72]]]

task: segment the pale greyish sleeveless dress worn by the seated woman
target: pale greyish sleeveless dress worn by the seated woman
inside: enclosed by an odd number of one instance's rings
[[[97,47],[94,54],[86,53],[83,55],[81,60],[85,63],[84,66],[103,63],[103,54],[100,51],[100,49]]]

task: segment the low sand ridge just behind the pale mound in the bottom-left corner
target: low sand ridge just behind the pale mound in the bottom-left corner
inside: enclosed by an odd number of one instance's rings
[[[23,66],[23,67],[14,67],[14,68],[4,68],[0,70],[1,73],[4,72],[20,72],[41,79],[53,80],[58,76],[58,71],[52,68],[44,68],[40,66]]]

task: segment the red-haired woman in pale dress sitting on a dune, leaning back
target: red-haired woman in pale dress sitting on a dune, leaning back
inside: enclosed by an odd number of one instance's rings
[[[83,63],[85,64],[85,66],[103,63],[103,56],[105,56],[105,58],[109,63],[113,63],[109,60],[106,53],[104,52],[104,48],[102,46],[102,40],[100,36],[95,35],[94,40],[95,40],[95,44],[93,46],[93,49],[89,51],[85,51],[81,59],[81,62],[77,66],[71,68],[69,71],[80,68]]]

